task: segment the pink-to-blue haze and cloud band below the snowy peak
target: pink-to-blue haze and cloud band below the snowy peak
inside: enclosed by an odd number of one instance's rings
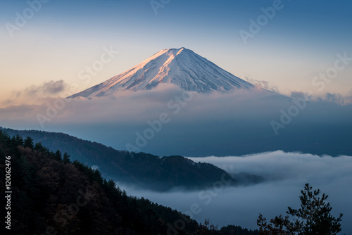
[[[291,99],[258,88],[198,94],[161,84],[94,99],[47,97],[0,113],[3,127],[65,132],[157,155],[352,152],[351,104]]]

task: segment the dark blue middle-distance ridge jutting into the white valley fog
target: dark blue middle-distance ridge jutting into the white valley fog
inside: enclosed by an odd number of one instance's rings
[[[208,163],[194,163],[188,158],[170,156],[160,158],[147,153],[117,151],[92,141],[84,141],[74,136],[55,132],[18,131],[4,129],[12,136],[30,136],[34,143],[42,143],[51,151],[60,149],[67,152],[72,160],[89,166],[97,166],[104,177],[117,182],[136,184],[144,189],[167,191],[172,187],[203,189],[222,177],[232,177],[231,185],[262,182],[261,177],[240,173],[229,175],[224,170]],[[146,167],[147,166],[147,167]]]

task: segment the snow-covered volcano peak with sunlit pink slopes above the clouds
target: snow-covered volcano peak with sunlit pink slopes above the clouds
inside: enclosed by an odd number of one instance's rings
[[[249,82],[182,47],[163,49],[130,70],[69,98],[77,96],[91,98],[108,96],[123,90],[153,89],[162,82],[200,93],[253,87]]]

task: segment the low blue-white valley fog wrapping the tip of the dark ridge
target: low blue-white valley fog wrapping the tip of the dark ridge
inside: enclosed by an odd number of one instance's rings
[[[282,151],[241,157],[190,158],[212,163],[231,173],[248,172],[265,177],[266,182],[251,186],[225,187],[219,179],[202,191],[159,193],[121,186],[132,196],[170,206],[194,217],[198,222],[209,218],[219,227],[227,224],[258,229],[256,220],[262,213],[267,218],[284,214],[287,207],[298,208],[304,184],[329,195],[332,213],[343,213],[341,234],[352,234],[352,157],[318,156]],[[228,179],[225,179],[228,180]]]

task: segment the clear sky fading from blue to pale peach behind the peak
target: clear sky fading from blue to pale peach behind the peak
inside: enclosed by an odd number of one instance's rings
[[[312,84],[334,67],[337,54],[352,57],[349,1],[283,0],[275,14],[260,23],[258,32],[250,30],[250,20],[263,19],[262,8],[276,6],[275,1],[163,3],[167,4],[154,11],[151,1],[51,0],[31,14],[27,1],[1,2],[0,101],[51,80],[75,83],[83,90],[161,49],[182,46],[242,79],[265,80],[286,94],[346,96],[352,90],[352,61],[324,89]],[[25,17],[25,23],[18,15]],[[9,33],[9,24],[16,30]],[[247,44],[240,30],[252,33]],[[119,53],[85,84],[79,72],[99,60],[104,47]]]

